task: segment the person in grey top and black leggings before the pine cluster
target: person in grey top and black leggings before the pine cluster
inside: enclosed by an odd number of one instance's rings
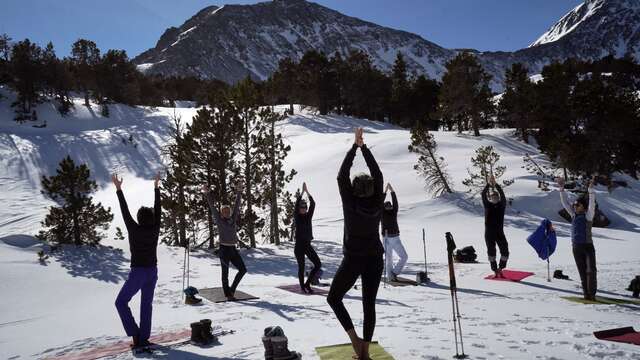
[[[242,261],[240,252],[237,249],[238,244],[238,219],[240,218],[240,194],[242,185],[237,183],[234,187],[236,191],[236,199],[233,205],[233,211],[229,205],[220,206],[220,210],[216,207],[216,199],[207,186],[202,187],[202,192],[207,198],[213,222],[218,227],[218,236],[220,237],[220,248],[218,256],[220,257],[220,266],[222,267],[222,290],[228,300],[235,300],[235,292],[240,284],[240,280],[247,273],[247,268]],[[237,270],[233,283],[229,286],[229,264],[232,264]]]

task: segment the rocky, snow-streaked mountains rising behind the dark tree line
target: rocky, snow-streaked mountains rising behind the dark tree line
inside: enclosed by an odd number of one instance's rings
[[[299,59],[316,49],[343,55],[369,54],[388,71],[402,52],[410,71],[439,79],[460,50],[446,49],[395,30],[305,0],[255,5],[210,6],[180,27],[167,29],[156,46],[134,59],[146,73],[217,78],[234,83],[246,76],[266,79],[285,57]],[[473,50],[472,50],[473,51]],[[586,0],[528,48],[514,52],[474,51],[500,90],[504,71],[515,62],[532,74],[554,60],[599,59],[614,54],[640,59],[640,1]]]

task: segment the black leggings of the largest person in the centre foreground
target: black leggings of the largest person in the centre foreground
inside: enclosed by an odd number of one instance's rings
[[[362,308],[364,312],[364,329],[362,332],[365,341],[371,341],[373,330],[376,327],[376,296],[378,295],[383,268],[382,255],[366,257],[345,255],[333,278],[331,289],[327,296],[327,302],[338,317],[344,330],[353,329],[353,322],[351,322],[351,317],[344,307],[342,299],[356,283],[358,276],[362,276]]]

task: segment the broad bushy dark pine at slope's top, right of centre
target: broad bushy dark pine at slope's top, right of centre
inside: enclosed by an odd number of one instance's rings
[[[494,112],[489,81],[478,58],[462,52],[445,65],[438,113],[441,119],[453,119],[458,132],[468,129],[480,136],[480,126]]]

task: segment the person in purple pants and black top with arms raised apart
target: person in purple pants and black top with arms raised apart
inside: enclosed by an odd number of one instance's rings
[[[131,250],[131,271],[129,271],[129,277],[118,293],[115,305],[127,336],[133,338],[133,347],[147,346],[151,335],[153,292],[158,281],[156,248],[160,235],[161,209],[160,189],[158,189],[160,174],[156,175],[154,182],[153,209],[141,207],[136,216],[137,222],[131,217],[127,201],[124,198],[122,179],[118,179],[118,176],[114,174],[111,180],[116,186],[116,194],[120,202],[124,224],[127,227]],[[138,291],[141,292],[140,326],[136,324],[129,308],[129,301]]]

